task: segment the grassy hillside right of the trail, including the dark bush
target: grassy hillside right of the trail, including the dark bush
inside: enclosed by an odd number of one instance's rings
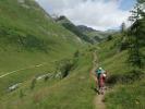
[[[112,85],[105,97],[107,109],[144,109],[145,68],[133,71],[126,62],[128,51],[119,52],[119,37],[114,35],[112,40],[97,47],[99,64],[109,72],[108,83]],[[142,51],[144,49],[141,48]]]

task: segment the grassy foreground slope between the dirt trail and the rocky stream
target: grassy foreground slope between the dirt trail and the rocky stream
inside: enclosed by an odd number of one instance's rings
[[[25,96],[20,98],[20,89],[3,97],[2,109],[92,109],[95,92],[89,78],[92,53],[78,57],[77,66],[63,80],[46,83],[38,82],[34,90],[29,90],[31,81],[25,82],[22,90]],[[25,106],[25,107],[24,107]]]

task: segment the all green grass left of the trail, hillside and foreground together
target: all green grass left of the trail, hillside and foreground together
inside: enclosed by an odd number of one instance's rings
[[[77,36],[53,22],[32,0],[1,0],[0,13],[0,75],[25,69],[0,78],[0,109],[93,108],[92,53],[82,48]],[[56,62],[73,58],[77,49],[83,53],[69,76],[41,80],[31,89],[35,76],[57,73]],[[47,64],[27,69],[44,62]],[[16,83],[22,84],[8,92]]]

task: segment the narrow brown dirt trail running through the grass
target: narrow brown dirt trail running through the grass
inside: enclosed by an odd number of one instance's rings
[[[92,69],[90,75],[95,81],[97,81],[94,75],[94,72],[98,68],[98,59],[97,59],[96,52],[94,52],[93,55],[94,55],[94,60],[93,60],[93,69]],[[104,97],[105,97],[105,95],[96,94],[96,96],[94,98],[95,109],[106,109],[106,106],[104,102]]]

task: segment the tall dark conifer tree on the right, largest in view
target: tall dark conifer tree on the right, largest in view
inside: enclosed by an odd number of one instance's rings
[[[142,7],[136,3],[134,10],[131,11],[132,15],[130,21],[133,23],[129,29],[129,62],[133,66],[142,68],[142,53],[140,51],[140,37],[142,37]]]

